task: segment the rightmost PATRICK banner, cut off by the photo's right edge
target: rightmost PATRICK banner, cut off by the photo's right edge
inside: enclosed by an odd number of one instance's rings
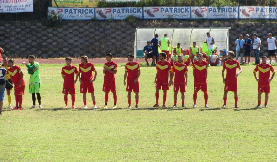
[[[240,19],[277,19],[277,7],[240,6]]]

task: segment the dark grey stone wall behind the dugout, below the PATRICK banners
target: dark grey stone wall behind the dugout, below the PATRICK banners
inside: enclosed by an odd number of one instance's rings
[[[261,39],[261,53],[267,52],[267,33],[274,37],[275,23],[260,22],[185,22],[160,20],[134,23],[128,21],[65,21],[60,27],[47,27],[41,22],[0,22],[0,47],[4,55],[25,58],[33,54],[41,58],[104,57],[112,53],[124,57],[134,52],[134,38],[137,27],[231,27],[229,49],[235,50],[235,40],[239,34],[257,33]],[[184,47],[187,48],[187,47]]]

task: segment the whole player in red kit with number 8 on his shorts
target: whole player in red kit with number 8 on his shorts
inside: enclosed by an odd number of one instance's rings
[[[222,79],[223,83],[225,84],[224,86],[224,95],[223,95],[223,101],[224,104],[222,108],[226,107],[226,101],[227,101],[227,93],[229,91],[234,92],[235,95],[235,108],[240,108],[238,107],[238,74],[242,72],[242,69],[240,67],[240,63],[236,60],[234,60],[234,52],[229,51],[228,52],[228,60],[224,62],[223,69],[222,69]],[[237,68],[240,70],[237,72]],[[226,69],[226,78],[224,78],[224,71]]]

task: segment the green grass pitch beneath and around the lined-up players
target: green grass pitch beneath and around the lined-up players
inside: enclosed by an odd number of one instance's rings
[[[71,162],[71,161],[276,161],[276,82],[271,83],[269,108],[257,106],[255,66],[242,66],[238,76],[238,105],[234,109],[234,94],[228,94],[227,108],[223,104],[222,67],[208,70],[209,109],[204,107],[199,91],[197,106],[193,106],[193,74],[189,67],[185,104],[181,108],[153,108],[155,104],[154,67],[142,67],[140,81],[140,109],[128,106],[123,85],[124,64],[116,74],[118,109],[104,106],[102,65],[96,65],[98,77],[94,82],[96,102],[100,109],[63,109],[64,101],[60,75],[63,65],[41,65],[41,96],[44,109],[32,106],[31,95],[23,97],[22,111],[3,109],[0,116],[1,162]],[[276,66],[275,66],[276,67]],[[26,68],[25,81],[28,85]],[[79,82],[76,83],[76,92]],[[12,92],[13,94],[13,92]],[[71,106],[71,98],[69,105]],[[89,96],[87,95],[88,101]],[[132,106],[134,107],[134,94]],[[162,93],[160,92],[160,102]],[[262,96],[262,104],[264,95]],[[14,96],[12,96],[14,105]],[[168,91],[166,104],[173,105],[173,89]],[[77,107],[83,107],[82,95],[76,94]],[[7,101],[4,101],[4,107]]]

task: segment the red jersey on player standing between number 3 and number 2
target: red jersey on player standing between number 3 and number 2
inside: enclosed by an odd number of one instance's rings
[[[157,82],[168,84],[168,72],[172,71],[170,62],[157,62],[156,70],[158,71]]]

